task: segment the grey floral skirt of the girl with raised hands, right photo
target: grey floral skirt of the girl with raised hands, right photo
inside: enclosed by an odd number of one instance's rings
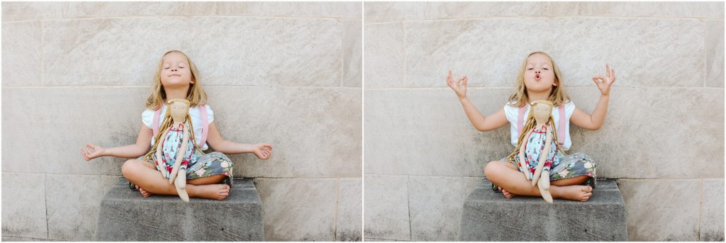
[[[550,181],[557,181],[566,178],[573,178],[577,176],[589,176],[585,184],[592,186],[595,189],[595,183],[597,182],[597,173],[595,170],[595,161],[590,159],[590,156],[585,155],[582,152],[576,152],[571,155],[557,155],[559,162],[552,164],[550,168]],[[517,165],[514,160],[507,160],[507,157],[499,160],[502,162],[510,162],[513,165]]]

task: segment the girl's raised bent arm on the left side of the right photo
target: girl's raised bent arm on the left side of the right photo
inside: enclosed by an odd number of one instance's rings
[[[462,76],[458,81],[454,81],[451,70],[449,70],[449,74],[446,76],[446,84],[456,92],[471,125],[478,131],[492,131],[507,125],[507,115],[505,115],[504,108],[486,117],[481,115],[481,112],[474,107],[474,104],[466,96],[467,81],[468,78],[466,76]]]

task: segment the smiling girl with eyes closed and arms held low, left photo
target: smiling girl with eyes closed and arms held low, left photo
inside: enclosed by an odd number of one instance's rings
[[[186,54],[180,51],[166,52],[161,58],[158,70],[154,76],[154,83],[151,94],[148,96],[145,110],[142,113],[143,125],[139,131],[136,144],[125,147],[103,148],[93,144],[86,144],[81,149],[83,159],[92,160],[102,156],[113,156],[131,158],[121,167],[121,173],[136,189],[139,189],[144,197],[152,194],[178,195],[174,185],[169,184],[168,179],[161,176],[155,168],[152,157],[144,157],[150,151],[150,146],[155,143],[152,138],[152,125],[155,110],[161,109],[160,114],[166,114],[166,100],[186,99],[189,101],[189,115],[194,134],[203,134],[202,112],[200,104],[205,104],[207,94],[202,88],[198,79],[197,67]],[[208,118],[208,139],[200,144],[201,135],[195,136],[195,142],[202,150],[209,147],[216,152],[202,155],[195,152],[193,162],[187,165],[187,186],[186,191],[189,197],[224,199],[229,194],[229,186],[232,185],[232,161],[224,154],[253,153],[258,158],[266,160],[272,153],[270,144],[238,144],[222,138],[216,125],[213,123],[213,112],[208,105],[205,105]],[[163,115],[159,117],[157,124],[163,124]],[[161,128],[163,129],[163,128]],[[163,130],[159,130],[163,133]]]

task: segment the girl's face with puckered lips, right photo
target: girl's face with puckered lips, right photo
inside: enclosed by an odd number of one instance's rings
[[[544,54],[533,54],[527,58],[524,70],[524,86],[527,91],[542,92],[552,90],[555,83],[555,71],[552,61]]]

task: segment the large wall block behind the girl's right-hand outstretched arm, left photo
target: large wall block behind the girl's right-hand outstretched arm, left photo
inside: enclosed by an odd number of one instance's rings
[[[273,146],[269,160],[230,156],[234,175],[244,177],[360,176],[361,93],[359,88],[208,88],[224,139]]]

